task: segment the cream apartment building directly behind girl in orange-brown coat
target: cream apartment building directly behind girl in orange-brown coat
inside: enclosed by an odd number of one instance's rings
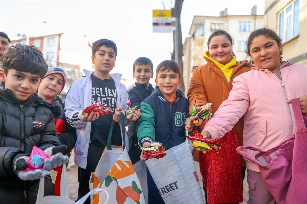
[[[220,12],[220,16],[194,16],[190,28],[190,37],[183,46],[184,82],[189,87],[191,68],[206,64],[204,53],[208,51],[208,38],[216,30],[225,30],[234,39],[233,52],[238,61],[249,60],[245,54],[246,41],[250,33],[263,27],[263,15],[257,15],[257,6],[251,9],[251,15],[228,15],[228,9]],[[188,88],[186,88],[187,94]]]

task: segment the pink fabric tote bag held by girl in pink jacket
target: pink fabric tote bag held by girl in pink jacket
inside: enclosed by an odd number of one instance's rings
[[[258,164],[261,175],[278,204],[307,203],[307,116],[301,113],[300,99],[291,100],[297,131],[278,146],[264,151],[240,146],[237,152]],[[243,149],[258,151],[255,158]]]

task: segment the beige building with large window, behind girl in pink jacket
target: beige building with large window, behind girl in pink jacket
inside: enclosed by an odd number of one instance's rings
[[[263,19],[282,39],[283,60],[307,66],[307,1],[265,0]]]

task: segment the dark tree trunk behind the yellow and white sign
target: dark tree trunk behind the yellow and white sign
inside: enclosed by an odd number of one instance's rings
[[[172,17],[176,17],[179,21],[178,23],[178,65],[180,66],[180,75],[182,79],[182,83],[179,87],[179,89],[182,91],[182,94],[185,96],[185,84],[183,82],[183,44],[182,44],[182,33],[181,33],[181,22],[180,22],[180,16],[181,16],[181,10],[182,10],[182,4],[184,0],[175,0],[175,6],[172,8]],[[173,31],[173,52],[171,56],[171,60],[175,61],[175,31]]]

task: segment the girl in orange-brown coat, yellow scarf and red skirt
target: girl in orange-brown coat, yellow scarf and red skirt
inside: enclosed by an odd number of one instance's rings
[[[214,114],[221,103],[228,98],[232,89],[232,80],[250,70],[251,66],[247,61],[236,61],[232,45],[233,39],[225,31],[219,30],[210,35],[209,51],[204,55],[208,64],[196,67],[191,78],[188,90],[190,113],[196,101],[196,106],[212,103]],[[202,130],[205,122],[201,120],[197,126]],[[238,122],[235,128],[229,131],[227,137],[220,141],[223,143],[223,151],[219,154],[213,151],[200,154],[200,172],[208,193],[206,200],[210,204],[243,201],[241,180],[245,175],[245,163],[242,158],[241,175],[240,157],[236,152],[236,148],[242,145],[243,123]],[[197,160],[196,157],[194,159]]]

